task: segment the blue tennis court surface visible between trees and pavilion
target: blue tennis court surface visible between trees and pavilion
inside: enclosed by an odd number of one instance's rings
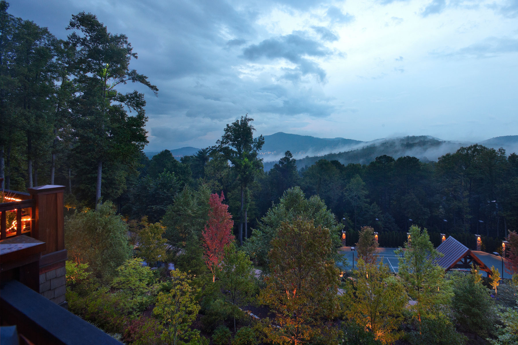
[[[379,260],[383,261],[384,264],[389,266],[391,272],[397,273],[398,266],[399,266],[399,261],[398,261],[399,256],[397,256],[394,253],[395,250],[397,250],[397,248],[377,248],[376,249],[376,253],[379,256]],[[344,254],[344,256],[347,258],[348,265],[343,267],[345,269],[351,269],[352,268],[353,253],[354,253],[354,268],[356,269],[358,253],[356,251],[354,251],[354,252],[351,251],[351,247],[341,247],[339,252],[341,254]],[[490,254],[490,253],[486,253],[484,251],[475,251],[475,250],[473,250],[473,253],[487,267],[491,268],[491,266],[495,266],[495,268],[498,268],[498,271],[500,271],[500,277],[502,277],[502,278],[512,278],[512,276],[510,274],[505,272],[505,267],[504,267],[504,272],[503,272],[503,276],[502,276],[502,260],[501,260],[500,257],[498,257],[496,255],[493,255],[493,254]],[[504,260],[504,263],[505,263],[505,260]],[[337,264],[337,265],[339,267],[342,267],[342,265],[340,265],[340,264]],[[485,273],[484,273],[484,277],[485,277]]]

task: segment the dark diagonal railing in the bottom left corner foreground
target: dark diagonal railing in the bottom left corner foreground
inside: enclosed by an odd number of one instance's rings
[[[16,280],[0,286],[0,320],[36,345],[122,344]]]

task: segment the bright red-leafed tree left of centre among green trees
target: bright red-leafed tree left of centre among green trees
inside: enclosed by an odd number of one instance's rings
[[[225,253],[225,247],[234,241],[232,234],[232,215],[228,213],[228,205],[223,203],[225,197],[221,192],[211,194],[209,199],[209,220],[202,232],[203,246],[205,247],[204,259],[207,267],[212,272],[212,281],[215,280],[216,269],[220,266]]]

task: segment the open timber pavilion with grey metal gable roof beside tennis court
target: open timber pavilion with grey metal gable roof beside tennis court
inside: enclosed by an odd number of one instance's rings
[[[445,271],[450,269],[458,269],[459,271],[467,271],[471,269],[471,265],[479,266],[478,269],[485,271],[487,276],[491,275],[489,269],[468,247],[458,242],[452,236],[437,247],[437,251],[444,256],[437,259],[437,264],[444,268]]]

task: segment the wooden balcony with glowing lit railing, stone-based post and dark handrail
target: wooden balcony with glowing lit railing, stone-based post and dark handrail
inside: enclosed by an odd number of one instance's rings
[[[0,203],[2,342],[11,343],[4,326],[16,325],[13,343],[121,344],[66,309],[64,189],[5,191]]]

